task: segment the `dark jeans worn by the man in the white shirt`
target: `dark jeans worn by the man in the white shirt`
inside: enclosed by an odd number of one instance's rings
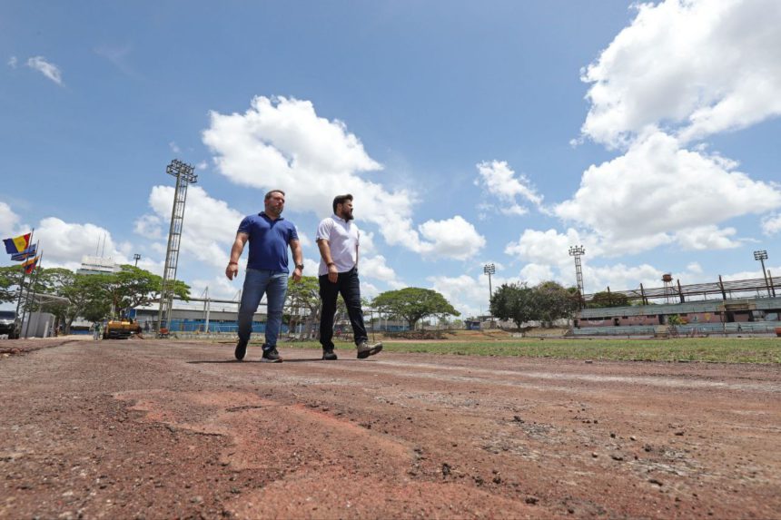
[[[336,283],[328,280],[324,274],[318,278],[320,282],[320,298],[322,300],[322,315],[320,319],[320,343],[323,350],[333,350],[333,317],[336,314],[336,299],[341,293],[341,298],[347,305],[347,314],[350,316],[352,336],[356,345],[366,341],[366,326],[363,325],[363,310],[361,310],[361,281],[358,280],[358,270],[352,268],[347,272],[339,273]]]

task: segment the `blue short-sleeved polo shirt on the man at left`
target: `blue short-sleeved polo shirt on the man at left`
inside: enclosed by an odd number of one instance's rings
[[[261,211],[257,215],[244,217],[238,232],[250,236],[248,268],[290,272],[288,244],[291,240],[298,240],[298,232],[291,221],[285,221],[282,217],[272,221]]]

